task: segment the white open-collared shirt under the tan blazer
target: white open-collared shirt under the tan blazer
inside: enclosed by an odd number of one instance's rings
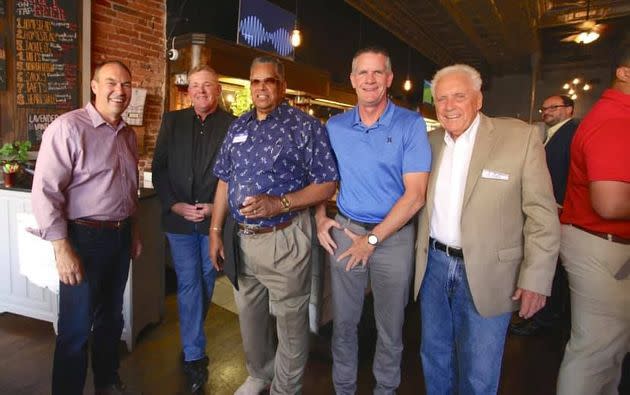
[[[468,167],[472,156],[480,116],[457,140],[444,133],[444,151],[435,182],[430,235],[451,247],[462,246],[461,216]]]

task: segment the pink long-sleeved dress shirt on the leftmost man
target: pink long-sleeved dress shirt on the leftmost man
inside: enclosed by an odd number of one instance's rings
[[[109,125],[90,103],[65,113],[42,137],[32,205],[45,240],[67,236],[68,221],[117,221],[138,206],[136,135],[123,121]]]

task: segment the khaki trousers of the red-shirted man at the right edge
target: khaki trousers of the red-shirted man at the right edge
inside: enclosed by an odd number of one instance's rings
[[[558,394],[617,394],[630,351],[630,245],[562,225],[560,256],[571,291],[571,339]]]

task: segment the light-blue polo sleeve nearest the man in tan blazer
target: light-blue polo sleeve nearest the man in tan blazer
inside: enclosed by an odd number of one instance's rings
[[[431,171],[431,145],[422,117],[417,117],[407,128],[403,149],[403,174]]]

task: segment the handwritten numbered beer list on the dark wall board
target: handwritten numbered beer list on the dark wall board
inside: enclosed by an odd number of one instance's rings
[[[78,105],[78,24],[73,0],[16,0],[18,107]]]

